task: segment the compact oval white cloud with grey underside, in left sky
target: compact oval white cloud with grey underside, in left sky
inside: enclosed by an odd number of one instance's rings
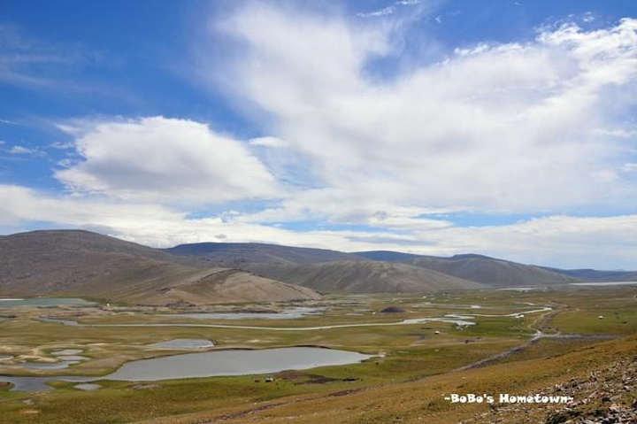
[[[154,117],[72,130],[82,160],[55,175],[75,193],[169,204],[279,196],[244,143],[204,124]]]

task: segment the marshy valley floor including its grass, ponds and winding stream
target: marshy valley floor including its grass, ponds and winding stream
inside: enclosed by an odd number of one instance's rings
[[[334,295],[303,304],[237,305],[236,311],[12,307],[5,310],[11,318],[0,321],[0,382],[9,382],[0,387],[0,412],[9,422],[34,422],[24,413],[33,410],[42,422],[77,422],[88,413],[91,422],[131,422],[153,417],[144,408],[161,402],[165,417],[210,417],[254,402],[351,392],[338,397],[346,400],[384,387],[405,394],[422,387],[428,393],[424,405],[437,405],[429,383],[422,386],[431,379],[451,388],[483,367],[521,359],[528,366],[568,355],[574,346],[602,349],[630,338],[637,331],[635,295],[632,286],[618,286],[480,290],[426,299]],[[388,307],[401,312],[380,313]],[[320,313],[273,321],[248,312],[232,324],[216,315],[255,308]],[[538,337],[539,331],[551,337]],[[25,366],[34,362],[50,366]],[[223,402],[214,400],[221,394]]]

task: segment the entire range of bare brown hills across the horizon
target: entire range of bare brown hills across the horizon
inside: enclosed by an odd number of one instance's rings
[[[0,296],[80,296],[195,305],[317,299],[321,293],[427,292],[635,281],[637,272],[562,270],[469,253],[342,252],[266,243],[153,249],[81,230],[0,236]]]

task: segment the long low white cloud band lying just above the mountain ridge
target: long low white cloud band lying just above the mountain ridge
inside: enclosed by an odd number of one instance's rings
[[[242,220],[236,212],[205,218],[156,204],[115,202],[95,197],[54,197],[33,189],[0,185],[0,226],[40,221],[81,227],[137,243],[167,247],[178,243],[280,243],[342,251],[394,250],[430,255],[480,252],[540,265],[634,268],[637,215],[605,218],[552,216],[516,224],[454,227],[444,220],[414,222],[421,211],[379,213],[380,231],[293,231]],[[433,212],[433,211],[428,211]],[[403,215],[401,215],[403,213]],[[382,223],[379,227],[383,227]],[[403,230],[409,231],[404,232]],[[591,249],[595,246],[595,249]]]

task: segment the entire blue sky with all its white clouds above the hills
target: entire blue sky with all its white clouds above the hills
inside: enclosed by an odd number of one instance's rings
[[[3,0],[0,234],[637,269],[637,3]]]

